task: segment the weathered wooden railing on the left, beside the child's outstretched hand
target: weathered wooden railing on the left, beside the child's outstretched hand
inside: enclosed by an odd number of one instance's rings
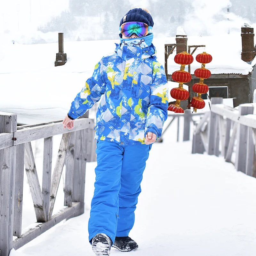
[[[0,112],[0,255],[9,255],[60,221],[84,213],[86,162],[95,161],[94,121],[79,118],[72,130],[62,121],[17,126],[17,115]],[[53,136],[62,134],[52,173]],[[44,138],[43,182],[40,188],[31,141]],[[52,211],[66,165],[64,206]],[[22,234],[23,175],[26,170],[38,225]],[[18,238],[13,241],[13,236]]]

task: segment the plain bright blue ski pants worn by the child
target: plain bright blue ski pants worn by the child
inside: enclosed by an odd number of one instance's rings
[[[122,146],[97,140],[94,195],[88,223],[89,241],[103,233],[112,242],[128,236],[134,225],[134,211],[140,183],[152,145]]]

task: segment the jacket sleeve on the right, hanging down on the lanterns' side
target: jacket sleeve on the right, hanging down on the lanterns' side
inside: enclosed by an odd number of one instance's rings
[[[145,138],[148,132],[153,132],[158,140],[162,135],[163,125],[167,119],[168,108],[168,84],[164,68],[159,62],[153,62],[153,81],[150,90]]]

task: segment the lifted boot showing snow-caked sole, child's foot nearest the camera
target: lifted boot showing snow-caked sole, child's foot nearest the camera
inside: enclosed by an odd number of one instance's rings
[[[105,234],[100,233],[92,238],[92,251],[97,256],[109,256],[111,245],[111,239]]]

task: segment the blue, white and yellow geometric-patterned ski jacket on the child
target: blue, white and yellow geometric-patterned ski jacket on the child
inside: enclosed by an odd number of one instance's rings
[[[156,61],[153,44],[146,48],[116,44],[115,52],[96,64],[68,115],[74,119],[82,116],[102,96],[95,139],[145,144],[148,132],[155,133],[157,139],[162,134],[167,95],[164,68]]]

